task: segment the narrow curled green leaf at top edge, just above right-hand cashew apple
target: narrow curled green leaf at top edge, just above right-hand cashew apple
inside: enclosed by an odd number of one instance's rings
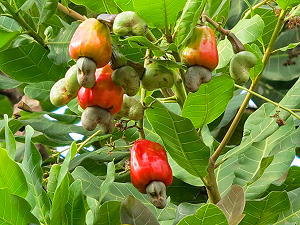
[[[204,5],[202,0],[187,0],[180,18],[176,22],[173,36],[177,46],[184,46],[200,18]]]

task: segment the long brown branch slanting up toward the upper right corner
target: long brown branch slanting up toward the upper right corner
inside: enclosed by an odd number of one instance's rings
[[[267,62],[270,58],[271,50],[273,48],[275,40],[277,39],[277,37],[278,37],[282,27],[283,27],[284,17],[285,17],[286,14],[287,14],[286,10],[281,10],[281,13],[278,17],[275,29],[274,29],[273,34],[272,34],[272,37],[270,39],[268,48],[264,52],[264,56],[263,56],[263,59],[262,59],[264,68],[267,65]],[[263,71],[263,69],[262,69],[262,71]],[[262,74],[262,72],[260,72],[260,74],[258,74],[258,76],[255,78],[255,80],[252,82],[252,84],[249,88],[249,91],[252,92],[255,89],[255,87],[256,87],[259,79],[260,79],[261,74]],[[216,165],[217,165],[216,161],[219,158],[219,156],[221,155],[223,148],[229,142],[231,136],[233,135],[233,133],[234,133],[234,131],[235,131],[237,125],[238,125],[238,123],[240,122],[240,119],[242,118],[242,115],[243,115],[245,109],[247,108],[249,100],[252,96],[251,92],[247,92],[247,95],[246,95],[240,109],[238,110],[236,116],[234,117],[227,133],[225,134],[225,136],[222,139],[222,141],[221,141],[220,145],[218,146],[218,148],[215,150],[215,152],[209,158],[208,167],[207,167],[208,175],[204,178],[204,181],[205,181],[204,183],[205,183],[205,186],[206,186],[206,189],[207,189],[207,192],[208,192],[209,199],[213,203],[217,203],[220,200],[220,192],[219,192],[219,189],[218,189],[218,183],[216,181],[216,176],[215,176],[215,172],[214,172],[214,170],[216,168]]]

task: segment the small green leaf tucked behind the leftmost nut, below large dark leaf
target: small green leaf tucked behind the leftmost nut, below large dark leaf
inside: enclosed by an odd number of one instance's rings
[[[50,102],[50,90],[53,86],[53,81],[44,81],[39,83],[32,83],[24,88],[24,93],[32,98],[40,101],[44,110],[53,109]]]

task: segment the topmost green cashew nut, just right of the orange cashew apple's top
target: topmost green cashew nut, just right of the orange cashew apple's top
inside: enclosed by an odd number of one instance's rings
[[[135,12],[125,11],[116,16],[113,32],[120,36],[142,36],[148,32],[148,26]]]

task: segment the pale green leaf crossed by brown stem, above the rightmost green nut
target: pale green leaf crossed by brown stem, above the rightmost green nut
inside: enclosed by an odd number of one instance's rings
[[[253,16],[251,19],[240,20],[232,29],[237,38],[243,43],[247,44],[261,36],[264,29],[264,21],[259,15]],[[232,56],[234,55],[230,42],[222,40],[218,44],[219,64],[217,69],[225,67]]]

